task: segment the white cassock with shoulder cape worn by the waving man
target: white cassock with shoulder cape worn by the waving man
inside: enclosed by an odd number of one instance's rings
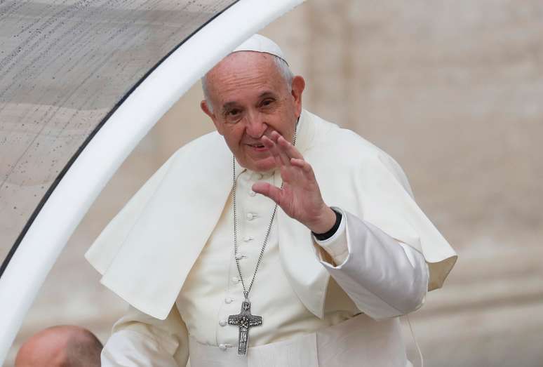
[[[238,356],[243,291],[233,257],[232,153],[217,133],[180,149],[100,234],[87,258],[130,303],[102,366],[410,366],[398,317],[441,286],[456,254],[413,201],[403,171],[358,135],[302,112],[297,149],[324,201],[342,212],[316,241],[278,208],[250,293],[247,356]],[[236,166],[239,260],[250,281],[274,203],[250,187],[279,173]],[[379,321],[377,321],[379,320]]]

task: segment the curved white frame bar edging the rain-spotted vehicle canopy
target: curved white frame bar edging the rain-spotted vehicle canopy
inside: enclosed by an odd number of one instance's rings
[[[114,112],[51,194],[0,279],[0,298],[9,300],[0,303],[0,363],[69,236],[138,142],[215,63],[302,2],[239,1],[164,60]]]

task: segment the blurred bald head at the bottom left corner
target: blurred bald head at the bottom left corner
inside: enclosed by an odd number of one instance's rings
[[[20,347],[15,367],[100,367],[102,343],[79,326],[53,326]]]

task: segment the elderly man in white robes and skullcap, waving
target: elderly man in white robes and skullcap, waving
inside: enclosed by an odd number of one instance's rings
[[[217,131],[87,254],[131,305],[102,366],[410,365],[397,316],[456,254],[393,159],[302,109],[304,85],[260,35],[206,74]]]

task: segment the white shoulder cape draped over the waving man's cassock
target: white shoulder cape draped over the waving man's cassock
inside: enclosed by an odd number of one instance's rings
[[[352,131],[307,111],[297,148],[313,166],[324,201],[420,251],[429,290],[440,288],[457,255],[413,200],[400,166]],[[210,133],[156,171],[86,253],[101,283],[140,311],[165,319],[232,189],[232,153]],[[281,264],[296,294],[322,317],[330,275],[307,227],[278,208]],[[288,246],[281,246],[287,243]]]

